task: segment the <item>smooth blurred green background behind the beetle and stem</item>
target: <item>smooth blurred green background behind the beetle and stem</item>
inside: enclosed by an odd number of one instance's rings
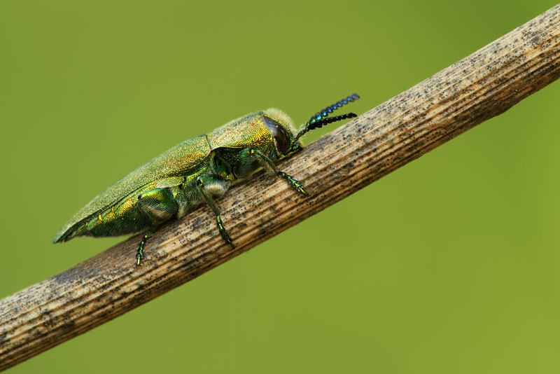
[[[179,141],[352,92],[363,113],[552,6],[0,2],[0,297],[123,240],[51,244]],[[553,83],[10,372],[558,373],[559,103]]]

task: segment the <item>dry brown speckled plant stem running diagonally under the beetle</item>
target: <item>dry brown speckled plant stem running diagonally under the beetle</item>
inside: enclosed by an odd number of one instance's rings
[[[174,286],[509,109],[560,76],[560,7],[310,144],[280,168],[302,181],[302,198],[263,176],[220,200],[232,239],[223,243],[209,209],[152,238],[146,263],[130,263],[138,237],[0,303],[0,366],[42,352]]]

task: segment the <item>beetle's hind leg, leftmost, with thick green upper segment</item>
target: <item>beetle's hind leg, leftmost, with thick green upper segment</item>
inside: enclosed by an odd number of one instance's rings
[[[155,233],[159,223],[167,221],[177,214],[179,205],[177,205],[172,192],[168,188],[155,188],[138,195],[138,207],[150,223],[150,231],[142,238],[136,255],[136,264],[140,265],[148,238]]]

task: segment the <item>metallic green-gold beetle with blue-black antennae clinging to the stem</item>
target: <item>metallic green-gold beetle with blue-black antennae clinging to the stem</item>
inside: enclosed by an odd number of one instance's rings
[[[356,117],[354,113],[328,117],[353,94],[328,106],[302,125],[296,135],[293,120],[279,109],[267,109],[237,118],[208,134],[183,141],[117,181],[64,225],[53,243],[76,236],[118,236],[147,231],[136,256],[140,265],[146,240],[165,221],[181,218],[206,203],[216,214],[223,239],[232,247],[214,198],[232,184],[249,179],[261,167],[286,179],[295,191],[307,195],[300,182],[276,169],[274,162],[300,150],[300,137],[327,123]]]

